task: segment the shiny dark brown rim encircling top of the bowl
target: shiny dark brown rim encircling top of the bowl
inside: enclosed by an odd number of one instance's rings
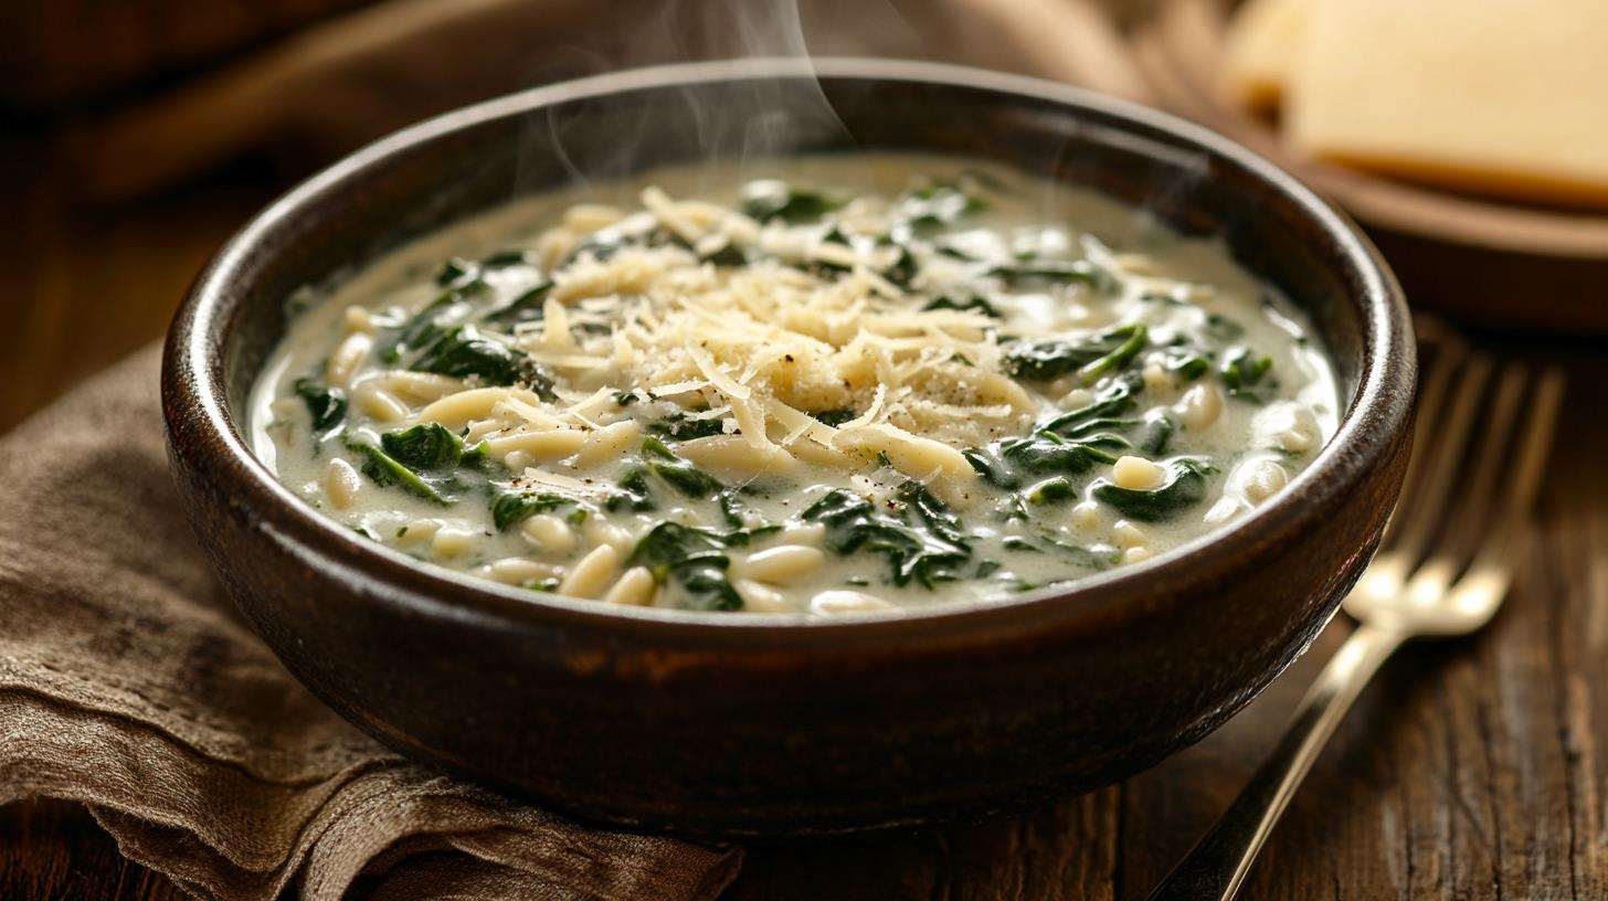
[[[706,84],[741,79],[822,77],[957,84],[1024,95],[1052,105],[1087,109],[1122,122],[1143,140],[1193,145],[1274,187],[1320,225],[1351,270],[1364,359],[1356,397],[1339,428],[1311,467],[1269,504],[1233,525],[1211,531],[1143,563],[1081,578],[1064,589],[1029,592],[1008,600],[941,602],[933,608],[860,613],[836,618],[764,613],[698,613],[659,608],[601,608],[597,602],[503,587],[445,568],[420,565],[384,545],[365,541],[328,520],[285,488],[252,454],[228,413],[224,335],[233,285],[248,261],[264,251],[264,240],[286,222],[339,193],[368,167],[455,130],[544,106],[659,88],[669,84]],[[259,301],[262,302],[262,301]],[[630,69],[539,87],[466,106],[381,138],[294,187],[236,232],[196,277],[169,331],[162,367],[164,417],[169,434],[199,438],[204,468],[222,479],[230,505],[257,516],[281,547],[301,544],[326,563],[367,581],[376,597],[425,616],[492,618],[503,624],[563,626],[646,639],[671,647],[732,647],[777,650],[854,645],[989,642],[1002,634],[1036,632],[1048,626],[1082,631],[1105,627],[1142,613],[1156,602],[1187,595],[1182,589],[1232,576],[1241,549],[1299,541],[1317,516],[1336,508],[1364,473],[1381,465],[1405,428],[1413,386],[1410,325],[1401,288],[1373,245],[1338,209],[1320,200],[1267,159],[1204,127],[1166,113],[1040,79],[939,63],[820,58],[735,60]],[[288,539],[288,541],[286,541]],[[1360,549],[1359,549],[1360,552]],[[1151,603],[1145,603],[1151,600]]]

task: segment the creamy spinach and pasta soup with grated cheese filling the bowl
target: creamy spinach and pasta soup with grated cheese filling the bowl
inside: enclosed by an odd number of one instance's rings
[[[1068,582],[1243,516],[1338,415],[1304,317],[1217,241],[950,158],[592,185],[291,304],[252,423],[286,486],[600,605]]]

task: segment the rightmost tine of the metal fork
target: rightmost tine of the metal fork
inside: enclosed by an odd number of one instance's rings
[[[1529,420],[1520,434],[1520,449],[1513,459],[1513,478],[1507,497],[1486,533],[1486,542],[1475,557],[1468,573],[1457,582],[1450,600],[1466,610],[1494,608],[1513,579],[1521,525],[1536,504],[1536,492],[1552,457],[1552,441],[1558,428],[1558,410],[1563,405],[1563,373],[1550,368],[1536,385]]]

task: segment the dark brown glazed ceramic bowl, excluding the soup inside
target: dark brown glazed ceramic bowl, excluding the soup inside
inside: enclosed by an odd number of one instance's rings
[[[767,106],[798,97],[814,98],[798,114]],[[762,122],[741,117],[756,109]],[[986,158],[1220,235],[1312,317],[1339,433],[1283,496],[1156,560],[1010,603],[831,624],[613,615],[431,571],[343,534],[246,450],[246,401],[294,290],[577,175],[781,150]],[[1372,248],[1222,138],[1028,79],[749,61],[515,95],[317,175],[196,282],[164,412],[230,594],[354,722],[579,816],[778,835],[1090,788],[1220,724],[1360,573],[1399,489],[1412,378],[1405,311]]]

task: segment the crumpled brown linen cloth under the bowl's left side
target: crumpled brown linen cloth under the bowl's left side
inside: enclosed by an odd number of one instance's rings
[[[201,898],[691,899],[741,862],[449,779],[314,700],[183,521],[156,348],[0,438],[0,803],[32,796]]]

